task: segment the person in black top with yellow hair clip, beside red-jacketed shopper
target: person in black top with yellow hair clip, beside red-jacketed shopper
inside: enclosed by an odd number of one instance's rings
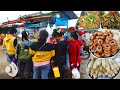
[[[60,76],[64,78],[64,64],[66,62],[66,52],[67,52],[67,43],[66,40],[63,39],[63,32],[58,29],[54,29],[53,37],[56,40],[54,44],[55,56],[53,58],[54,65],[59,67]]]

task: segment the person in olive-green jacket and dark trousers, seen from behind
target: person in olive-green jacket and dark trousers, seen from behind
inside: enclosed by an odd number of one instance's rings
[[[26,72],[26,79],[30,79],[32,76],[32,56],[29,54],[29,47],[32,42],[28,39],[28,33],[22,32],[22,41],[17,44],[17,59],[19,68],[19,77],[24,79]]]

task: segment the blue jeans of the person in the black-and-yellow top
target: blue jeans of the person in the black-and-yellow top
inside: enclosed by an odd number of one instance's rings
[[[33,68],[33,79],[48,79],[48,74],[50,72],[50,63],[44,66],[34,66]]]

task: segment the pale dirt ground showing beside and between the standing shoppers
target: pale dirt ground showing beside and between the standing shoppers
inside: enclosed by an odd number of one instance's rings
[[[88,60],[82,60],[81,62],[80,65],[81,79],[89,79],[88,75],[86,74],[87,62]],[[7,65],[9,65],[9,63],[6,60],[5,52],[2,51],[2,47],[0,46],[0,79],[12,79],[10,76],[7,75],[7,73],[4,70]],[[116,77],[116,79],[120,79],[120,74]]]

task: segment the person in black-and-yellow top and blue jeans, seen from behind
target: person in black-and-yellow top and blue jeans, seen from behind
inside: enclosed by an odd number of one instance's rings
[[[53,45],[47,43],[48,32],[42,30],[39,33],[38,42],[30,46],[30,54],[33,56],[33,79],[48,79],[50,72],[50,60],[55,55]]]

